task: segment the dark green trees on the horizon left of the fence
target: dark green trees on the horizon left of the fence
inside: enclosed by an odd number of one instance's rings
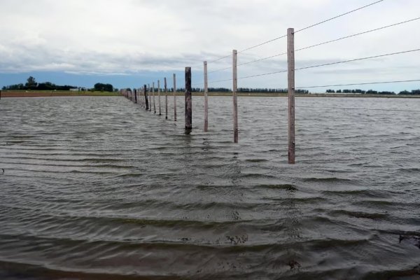
[[[45,82],[45,83],[36,83],[34,77],[30,76],[27,78],[27,83],[19,83],[16,85],[7,85],[2,88],[2,90],[90,90],[90,91],[101,91],[101,92],[113,92],[113,85],[109,83],[96,83],[93,88],[87,89],[85,87],[76,87],[73,85],[55,85],[54,83]]]

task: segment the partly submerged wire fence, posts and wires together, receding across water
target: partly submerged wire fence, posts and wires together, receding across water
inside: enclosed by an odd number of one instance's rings
[[[372,81],[370,83],[342,83],[342,84],[333,84],[333,85],[307,85],[307,86],[300,86],[300,87],[296,87],[295,86],[295,71],[302,71],[305,69],[314,69],[317,67],[323,67],[323,66],[330,66],[330,65],[336,65],[336,64],[344,64],[344,63],[348,63],[348,62],[356,62],[356,61],[362,61],[365,59],[374,59],[374,58],[379,58],[379,57],[388,57],[388,56],[392,56],[392,55],[402,55],[402,54],[406,54],[406,53],[411,53],[411,52],[418,52],[420,51],[420,48],[414,48],[414,49],[410,49],[410,50],[400,50],[397,52],[390,52],[390,53],[385,53],[385,54],[379,54],[379,55],[374,55],[374,56],[369,56],[369,57],[358,57],[358,58],[354,58],[354,59],[346,59],[346,60],[342,60],[342,61],[337,61],[337,62],[330,62],[330,63],[325,63],[325,64],[317,64],[317,65],[310,65],[310,66],[304,66],[304,67],[300,67],[300,68],[295,68],[295,52],[300,52],[302,50],[308,50],[310,48],[315,48],[321,45],[326,45],[328,43],[333,43],[333,42],[337,42],[337,41],[342,41],[344,39],[347,38],[353,38],[356,36],[360,36],[363,34],[369,34],[372,33],[374,31],[380,31],[383,29],[388,29],[391,27],[397,27],[400,25],[404,25],[407,24],[409,22],[414,22],[416,20],[420,20],[419,18],[413,18],[410,20],[405,20],[402,22],[396,22],[393,23],[391,25],[386,25],[383,27],[378,27],[378,28],[374,28],[374,29],[369,29],[369,30],[365,30],[365,31],[360,31],[356,34],[350,34],[350,35],[346,35],[346,36],[341,36],[339,38],[334,38],[332,40],[328,40],[328,41],[324,41],[321,43],[315,43],[313,45],[308,45],[306,47],[303,48],[298,48],[297,50],[295,50],[295,34],[297,34],[298,32],[310,29],[312,27],[316,27],[318,25],[321,25],[325,22],[329,22],[331,20],[335,20],[337,18],[340,18],[344,15],[349,15],[350,13],[354,13],[358,10],[362,10],[363,8],[367,8],[370,6],[373,6],[374,4],[380,3],[384,0],[380,0],[380,1],[375,1],[373,3],[370,3],[368,5],[362,6],[360,8],[356,8],[354,10],[350,10],[349,12],[346,13],[342,13],[340,15],[337,15],[333,18],[328,18],[327,20],[323,20],[321,22],[317,22],[314,25],[309,25],[307,27],[304,27],[302,29],[298,29],[297,31],[295,31],[293,28],[289,28],[287,29],[287,33],[284,34],[283,36],[279,36],[276,38],[272,38],[269,41],[265,41],[262,43],[258,43],[256,45],[253,45],[251,47],[245,48],[244,50],[232,50],[232,54],[230,55],[225,55],[223,57],[218,57],[216,59],[213,59],[209,62],[204,61],[203,63],[203,78],[204,80],[202,80],[201,83],[195,83],[193,85],[200,85],[204,87],[204,132],[208,131],[208,127],[209,127],[209,114],[208,114],[208,96],[209,96],[209,84],[214,84],[214,83],[221,83],[221,82],[232,82],[232,97],[233,97],[233,108],[232,108],[232,117],[233,117],[233,139],[235,143],[238,143],[239,141],[239,127],[238,127],[238,111],[237,111],[237,89],[238,89],[238,80],[243,80],[243,79],[248,79],[248,78],[255,78],[255,77],[261,77],[261,76],[268,76],[268,75],[274,75],[274,74],[278,74],[278,73],[288,73],[287,75],[287,83],[288,83],[288,162],[289,164],[294,164],[295,163],[295,90],[306,90],[306,89],[310,89],[310,88],[319,88],[319,87],[339,87],[339,86],[353,86],[353,85],[378,85],[378,84],[386,84],[386,83],[409,83],[409,82],[419,82],[420,79],[419,78],[414,78],[414,79],[407,79],[407,80],[386,80],[386,81]],[[286,48],[286,52],[281,52],[278,54],[274,54],[274,55],[269,55],[267,57],[263,57],[260,59],[255,59],[249,62],[245,62],[245,63],[241,63],[241,64],[237,64],[237,57],[238,54],[241,54],[243,52],[247,52],[248,50],[252,50],[255,48],[258,48],[262,45],[266,45],[268,43],[272,43],[274,41],[277,41],[281,38],[287,38],[287,48]],[[282,55],[287,55],[287,62],[288,62],[288,67],[287,69],[282,69],[279,71],[273,71],[273,72],[269,72],[269,73],[260,73],[257,75],[251,75],[251,76],[242,76],[242,77],[238,77],[237,76],[237,67],[238,66],[245,66],[248,64],[253,64],[253,63],[257,63],[257,62],[262,62],[265,61],[267,59],[272,59],[274,57],[280,57]],[[227,59],[227,58],[231,58],[232,59],[232,66],[229,67],[225,67],[222,69],[215,69],[213,71],[208,71],[208,66],[209,64],[213,64],[213,63],[217,63],[220,62],[223,59]],[[228,71],[232,69],[232,78],[227,78],[227,79],[223,79],[223,80],[208,80],[208,76],[211,73],[216,73],[216,72],[221,72],[221,71]],[[186,76],[186,85],[185,85],[185,102],[186,102],[186,111],[185,111],[185,128],[187,131],[190,131],[192,129],[192,100],[191,100],[191,67],[186,67],[185,69],[185,76]],[[173,94],[174,94],[174,120],[176,121],[176,76],[175,74],[173,75]],[[158,113],[159,116],[162,116],[162,103],[161,103],[161,89],[160,89],[160,80],[158,80],[158,93],[157,93],[157,99],[158,99]],[[165,118],[168,118],[168,88],[167,88],[167,78],[164,78],[164,90],[165,90]],[[152,83],[152,87],[150,87],[150,85],[146,86],[144,85],[144,87],[142,89],[135,89],[135,90],[120,90],[120,93],[123,94],[125,97],[131,99],[133,102],[140,104],[140,106],[143,106],[146,110],[148,111],[152,111],[152,104],[153,104],[153,111],[154,113],[157,113],[156,111],[156,102],[155,102],[155,83]]]

